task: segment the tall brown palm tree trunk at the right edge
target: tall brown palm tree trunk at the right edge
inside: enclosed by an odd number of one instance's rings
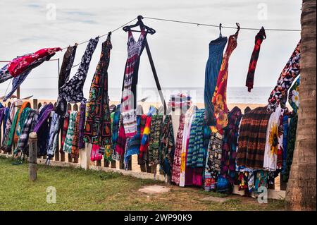
[[[316,210],[316,0],[303,0],[301,24],[300,103],[286,208]]]

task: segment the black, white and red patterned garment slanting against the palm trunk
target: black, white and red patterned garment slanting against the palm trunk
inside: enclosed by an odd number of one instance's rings
[[[301,59],[301,51],[299,45],[300,42],[297,44],[292,56],[287,61],[286,66],[283,68],[282,73],[278,78],[278,83],[268,98],[268,110],[270,111],[275,111],[279,104],[281,104],[281,107],[285,108],[287,91],[300,73],[299,61]]]

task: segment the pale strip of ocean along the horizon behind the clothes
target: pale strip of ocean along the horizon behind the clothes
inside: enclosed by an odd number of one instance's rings
[[[268,97],[271,93],[272,87],[254,87],[251,92],[247,91],[247,87],[228,87],[227,101],[228,103],[235,104],[266,104]],[[1,89],[0,95],[4,95],[6,90]],[[192,102],[203,103],[204,102],[204,87],[168,87],[163,88],[163,95],[168,102],[171,94],[178,94],[180,92],[189,94],[192,97]],[[36,99],[56,99],[58,94],[57,89],[27,89],[21,87],[20,97],[33,96]],[[121,97],[120,88],[109,88],[109,98],[111,101],[119,101]],[[84,89],[84,95],[88,99],[89,88]],[[137,99],[143,99],[147,97],[147,102],[160,102],[159,93],[156,87],[139,87],[137,91]]]

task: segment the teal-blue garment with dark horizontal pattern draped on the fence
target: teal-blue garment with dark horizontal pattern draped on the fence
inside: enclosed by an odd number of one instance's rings
[[[204,109],[199,109],[194,114],[189,135],[187,167],[204,167],[204,116]]]

